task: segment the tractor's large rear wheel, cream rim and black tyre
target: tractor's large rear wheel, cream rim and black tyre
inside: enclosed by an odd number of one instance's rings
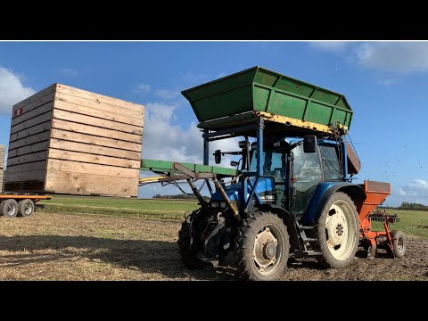
[[[337,192],[326,202],[317,221],[315,248],[325,268],[345,268],[358,249],[358,210],[346,193]]]

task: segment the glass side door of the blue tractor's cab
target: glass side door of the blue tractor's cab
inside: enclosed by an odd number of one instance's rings
[[[292,213],[301,217],[308,209],[317,185],[323,181],[323,174],[318,149],[317,152],[303,152],[303,145],[299,144],[292,150],[292,153],[294,156]]]

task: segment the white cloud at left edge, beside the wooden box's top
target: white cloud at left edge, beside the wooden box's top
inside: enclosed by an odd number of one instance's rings
[[[22,84],[22,76],[0,67],[0,113],[10,114],[15,103],[34,93],[33,88]]]

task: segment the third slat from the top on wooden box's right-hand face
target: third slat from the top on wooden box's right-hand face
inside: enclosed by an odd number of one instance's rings
[[[128,124],[122,124],[122,123],[107,120],[107,119],[99,119],[92,116],[81,115],[71,111],[62,111],[58,109],[53,109],[53,118],[73,121],[79,124],[91,125],[91,126],[96,126],[100,128],[108,128],[108,129],[114,128],[115,130],[118,130],[121,132],[136,134],[139,136],[143,135],[143,128],[139,128]]]

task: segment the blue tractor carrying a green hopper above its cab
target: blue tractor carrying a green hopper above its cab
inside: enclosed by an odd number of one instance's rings
[[[352,117],[343,95],[260,67],[183,95],[200,120],[204,166],[173,163],[176,172],[162,179],[187,179],[201,204],[179,231],[188,268],[210,267],[232,251],[244,278],[276,280],[291,256],[345,268],[358,244],[373,251],[376,240],[364,235],[360,222],[379,202],[365,201],[369,193],[383,201],[391,189],[352,184],[360,163],[343,140]],[[238,151],[213,156],[218,164],[222,156],[239,156],[231,162],[237,170],[210,166],[210,143],[236,137],[243,137]],[[205,179],[210,201],[195,179]]]

